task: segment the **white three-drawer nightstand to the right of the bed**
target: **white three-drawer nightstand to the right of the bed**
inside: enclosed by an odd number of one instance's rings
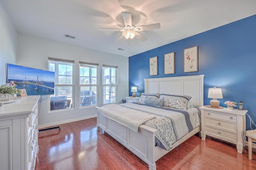
[[[201,137],[206,135],[236,144],[238,153],[243,152],[246,140],[245,115],[247,110],[212,109],[205,106],[201,109]]]

